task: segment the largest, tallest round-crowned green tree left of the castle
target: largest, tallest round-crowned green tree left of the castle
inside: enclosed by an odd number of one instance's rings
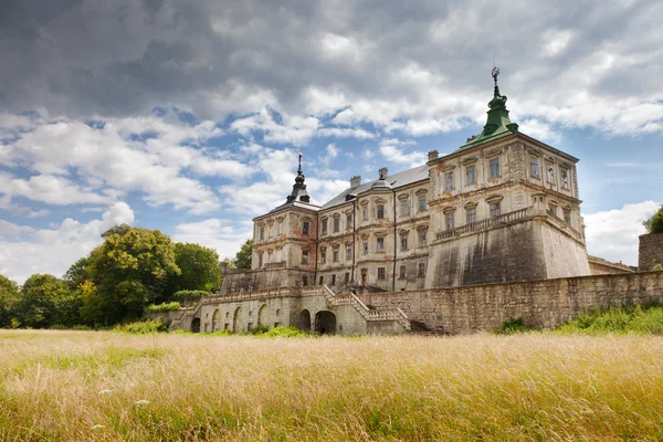
[[[138,318],[149,304],[162,302],[168,282],[180,270],[175,245],[158,230],[116,225],[88,256],[85,272],[96,287],[84,304],[86,320],[104,325]],[[94,299],[94,296],[99,299]]]

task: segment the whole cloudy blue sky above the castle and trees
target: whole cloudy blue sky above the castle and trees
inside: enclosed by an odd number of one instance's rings
[[[580,158],[587,249],[638,262],[663,202],[663,3],[3,0],[0,274],[62,275],[116,223],[232,257],[297,152],[324,202],[482,130]]]

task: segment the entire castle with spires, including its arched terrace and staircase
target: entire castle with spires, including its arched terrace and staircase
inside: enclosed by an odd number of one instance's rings
[[[189,308],[173,327],[456,333],[486,327],[471,325],[477,318],[465,318],[469,313],[456,318],[465,325],[453,325],[451,311],[444,319],[442,312],[459,303],[484,305],[492,312],[487,324],[515,317],[519,307],[511,312],[508,305],[525,303],[520,317],[548,327],[583,303],[597,304],[590,294],[566,312],[549,296],[538,301],[541,309],[522,290],[523,282],[557,281],[566,285],[556,296],[571,296],[568,281],[591,275],[590,261],[578,159],[518,130],[497,74],[482,133],[449,155],[430,151],[425,165],[393,175],[381,168],[369,182],[352,177],[345,191],[317,206],[299,154],[286,201],[253,220],[252,269],[224,269],[221,293]],[[473,291],[483,301],[472,301]]]

